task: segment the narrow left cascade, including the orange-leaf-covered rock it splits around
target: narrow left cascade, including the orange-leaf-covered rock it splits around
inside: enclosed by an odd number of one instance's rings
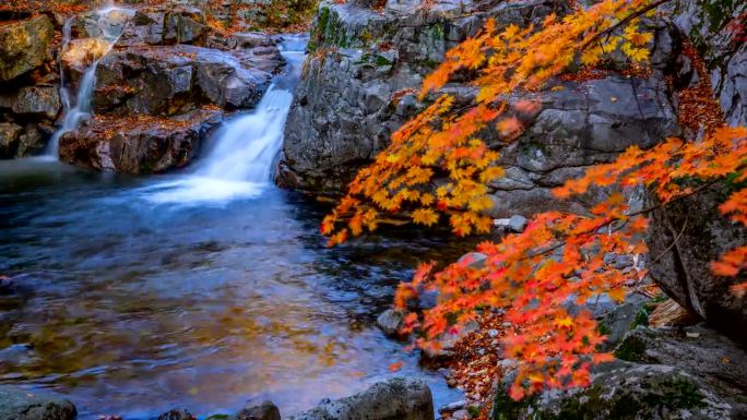
[[[92,111],[92,96],[94,86],[96,84],[96,69],[104,56],[106,56],[122,35],[124,24],[134,15],[131,9],[119,8],[109,1],[100,9],[93,11],[91,17],[92,25],[86,27],[88,34],[95,35],[95,38],[90,38],[88,43],[81,43],[73,46],[71,41],[72,25],[76,17],[70,17],[66,21],[62,27],[62,50],[60,58],[60,97],[64,111],[62,125],[52,134],[49,145],[47,146],[47,155],[57,158],[60,144],[60,137],[68,132],[78,128],[84,119],[91,118]],[[84,57],[93,55],[94,59],[85,68],[83,76],[78,83],[78,93],[75,94],[74,103],[71,100],[72,96],[70,89],[66,85],[63,57],[79,56]],[[82,60],[81,60],[82,61]]]

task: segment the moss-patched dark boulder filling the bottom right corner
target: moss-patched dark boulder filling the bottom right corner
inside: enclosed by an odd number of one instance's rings
[[[668,365],[605,363],[595,368],[588,388],[543,392],[520,401],[508,395],[512,377],[498,385],[494,420],[742,418],[738,409],[699,377]]]

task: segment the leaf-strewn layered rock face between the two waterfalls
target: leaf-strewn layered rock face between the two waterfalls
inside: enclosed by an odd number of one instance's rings
[[[94,17],[79,16],[78,32],[98,36]],[[283,65],[278,38],[220,37],[199,8],[144,5],[117,24],[122,37],[96,68],[96,117],[60,140],[63,161],[130,173],[183,167],[223,111],[254,106]]]

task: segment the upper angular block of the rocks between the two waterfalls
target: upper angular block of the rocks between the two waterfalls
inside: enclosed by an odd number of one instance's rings
[[[173,116],[201,104],[251,107],[282,64],[276,47],[258,48],[227,52],[178,45],[112,51],[96,72],[94,110]]]

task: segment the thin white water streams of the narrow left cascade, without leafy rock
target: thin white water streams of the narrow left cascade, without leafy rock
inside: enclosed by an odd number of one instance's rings
[[[112,15],[114,13],[114,15]],[[114,48],[119,37],[122,35],[123,22],[122,16],[126,19],[132,17],[134,11],[130,9],[119,8],[114,4],[114,1],[106,2],[100,9],[93,12],[93,16],[96,19],[96,26],[100,32],[100,39],[106,43],[107,49],[104,52],[106,56],[111,48]],[[62,52],[70,48],[71,28],[74,17],[70,17],[66,21],[62,27]],[[115,24],[112,24],[112,22]],[[116,24],[119,22],[120,24]],[[78,128],[81,121],[91,118],[92,110],[92,97],[94,92],[94,86],[96,84],[96,69],[98,68],[99,59],[94,60],[83,72],[78,84],[78,93],[75,95],[75,101],[72,103],[70,91],[66,86],[64,80],[64,69],[62,60],[60,59],[60,96],[62,98],[62,106],[64,111],[64,119],[62,120],[62,125],[52,134],[49,145],[47,146],[46,155],[57,158],[59,153],[60,137],[66,133],[69,133]]]

